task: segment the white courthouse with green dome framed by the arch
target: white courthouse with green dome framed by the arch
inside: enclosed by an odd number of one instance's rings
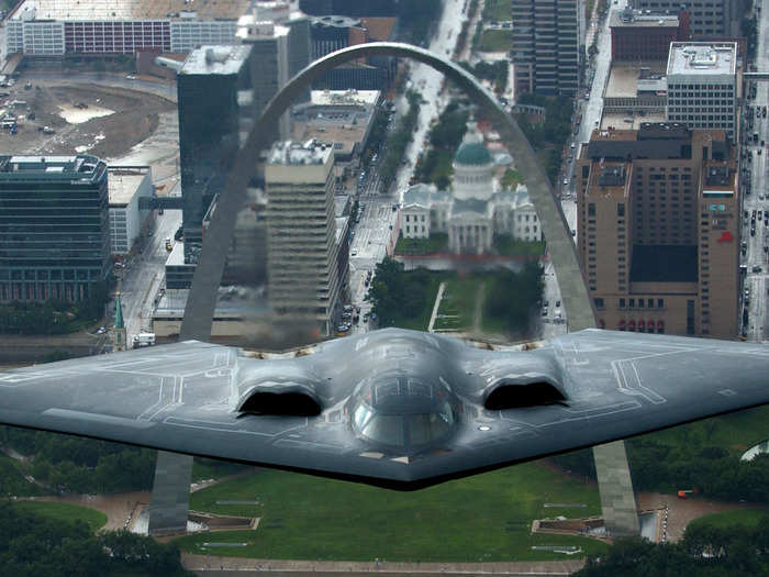
[[[403,195],[401,234],[405,238],[447,233],[448,249],[457,254],[490,253],[495,235],[543,240],[526,187],[519,185],[514,192],[497,190],[494,163],[475,122],[467,125],[453,167],[450,191],[420,184]]]

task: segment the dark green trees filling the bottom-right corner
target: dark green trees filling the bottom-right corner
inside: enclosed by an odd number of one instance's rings
[[[687,528],[679,543],[617,540],[609,553],[588,557],[575,577],[733,577],[769,575],[769,515],[758,525]]]

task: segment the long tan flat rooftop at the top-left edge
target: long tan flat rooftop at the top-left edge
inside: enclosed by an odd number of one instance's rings
[[[11,19],[34,20],[237,20],[249,0],[24,0]]]

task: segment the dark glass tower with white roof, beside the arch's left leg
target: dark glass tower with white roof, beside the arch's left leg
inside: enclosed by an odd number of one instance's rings
[[[202,244],[203,215],[226,181],[254,116],[252,47],[201,46],[177,77],[185,262]]]

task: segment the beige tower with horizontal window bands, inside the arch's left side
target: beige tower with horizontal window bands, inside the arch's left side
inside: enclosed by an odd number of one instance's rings
[[[267,298],[279,315],[316,323],[325,334],[348,270],[333,165],[333,146],[311,141],[277,143],[265,166]]]

